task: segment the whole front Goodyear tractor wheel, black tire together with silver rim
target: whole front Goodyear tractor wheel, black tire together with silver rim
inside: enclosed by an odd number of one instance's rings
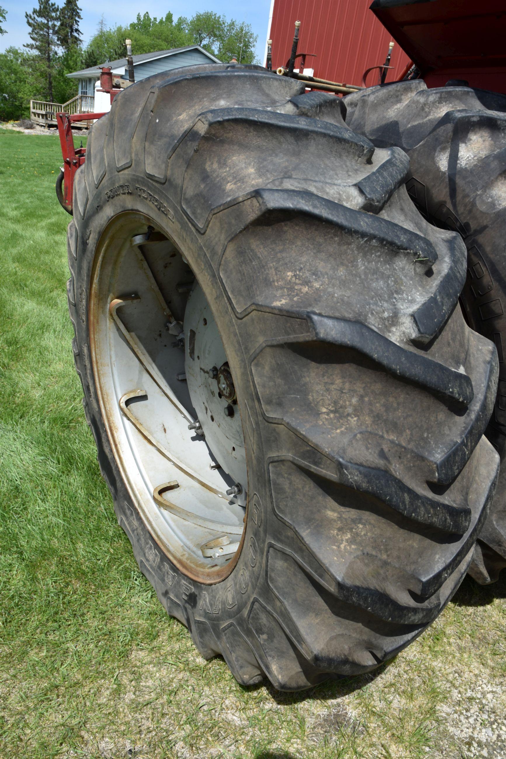
[[[93,126],[68,231],[74,356],[141,571],[244,685],[374,669],[469,565],[498,455],[466,250],[339,99],[180,69]]]

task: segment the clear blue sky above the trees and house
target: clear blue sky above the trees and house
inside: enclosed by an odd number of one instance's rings
[[[58,2],[62,5],[62,2]],[[25,20],[25,11],[29,13],[33,10],[34,5],[38,5],[36,0],[0,0],[0,5],[7,11],[7,21],[5,28],[7,34],[0,36],[0,51],[13,45],[20,47],[28,42],[28,27]],[[79,0],[81,15],[83,20],[80,24],[83,33],[83,41],[87,43],[90,37],[95,33],[96,26],[100,17],[104,14],[105,23],[108,26],[115,24],[130,24],[138,13],[143,14],[146,11],[150,16],[165,16],[168,11],[174,15],[174,20],[179,16],[191,17],[197,11],[215,11],[218,14],[225,14],[227,18],[235,18],[237,21],[246,21],[251,24],[253,32],[258,35],[258,44],[256,55],[262,61],[264,49],[266,46],[267,24],[269,21],[269,0],[254,0],[254,2],[232,2],[232,0],[175,0],[167,5],[154,0],[143,0],[133,2],[133,0],[116,0],[116,2],[101,2],[101,0]],[[135,52],[135,50],[134,50]]]

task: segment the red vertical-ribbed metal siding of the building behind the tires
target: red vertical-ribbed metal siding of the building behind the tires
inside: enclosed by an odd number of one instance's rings
[[[366,68],[385,62],[391,36],[372,11],[371,0],[274,0],[272,14],[272,68],[290,58],[295,21],[300,21],[300,52],[316,52],[306,59],[315,76],[348,84],[362,84]],[[387,81],[397,79],[408,63],[395,44]],[[367,84],[377,83],[377,72]]]

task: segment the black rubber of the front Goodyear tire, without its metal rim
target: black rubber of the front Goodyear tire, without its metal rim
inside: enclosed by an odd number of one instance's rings
[[[167,612],[243,685],[307,688],[413,641],[467,572],[498,470],[495,348],[456,308],[464,244],[410,203],[404,153],[343,114],[258,67],[165,72],[115,98],[76,174],[68,302],[102,475]],[[88,303],[122,213],[184,251],[247,410],[244,547],[215,584],[153,539],[105,431]]]

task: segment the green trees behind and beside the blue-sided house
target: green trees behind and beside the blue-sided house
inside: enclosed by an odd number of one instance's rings
[[[171,13],[161,18],[137,14],[128,26],[108,27],[100,20],[90,43],[83,48],[77,0],[37,0],[37,8],[26,14],[30,43],[25,50],[8,48],[0,54],[0,119],[29,115],[30,99],[64,103],[77,94],[77,80],[66,74],[124,58],[124,41],[132,40],[134,55],[198,44],[222,61],[233,55],[240,63],[254,60],[256,36],[249,24],[227,20],[213,11],[192,18]],[[5,11],[0,7],[0,24]],[[0,33],[5,32],[0,26]]]

